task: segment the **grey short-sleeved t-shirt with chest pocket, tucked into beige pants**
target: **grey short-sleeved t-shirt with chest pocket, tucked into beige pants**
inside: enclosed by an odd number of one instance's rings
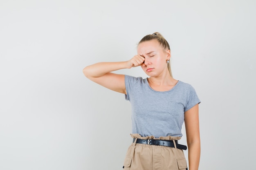
[[[181,137],[184,112],[200,103],[195,89],[178,81],[170,91],[155,91],[148,80],[125,75],[126,100],[132,106],[132,133]]]

